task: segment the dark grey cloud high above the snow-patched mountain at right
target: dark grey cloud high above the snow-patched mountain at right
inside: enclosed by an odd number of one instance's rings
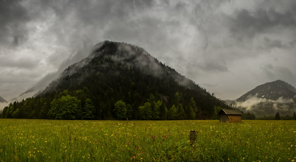
[[[291,11],[280,13],[274,8],[258,8],[255,11],[236,10],[234,17],[229,17],[230,31],[237,39],[253,38],[256,33],[268,33],[276,27],[295,29],[295,14]]]

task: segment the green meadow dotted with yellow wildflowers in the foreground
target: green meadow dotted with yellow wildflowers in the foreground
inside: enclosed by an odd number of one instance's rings
[[[296,121],[0,120],[1,161],[295,161]],[[193,146],[189,130],[198,130]]]

